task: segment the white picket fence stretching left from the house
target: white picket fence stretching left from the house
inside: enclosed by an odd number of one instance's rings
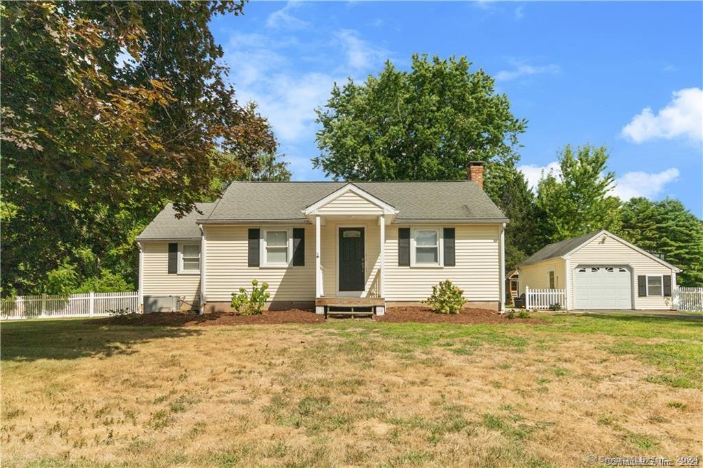
[[[128,292],[86,292],[68,297],[39,294],[3,300],[0,320],[108,316],[109,311],[138,311],[139,294]]]

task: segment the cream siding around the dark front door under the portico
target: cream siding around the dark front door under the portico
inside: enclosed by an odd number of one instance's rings
[[[322,238],[320,245],[320,261],[323,271],[323,290],[326,297],[334,297],[337,295],[337,238],[339,232],[337,228],[340,226],[348,228],[364,228],[364,254],[366,261],[364,262],[365,281],[366,281],[366,297],[378,297],[378,268],[379,257],[381,251],[380,227],[378,219],[375,221],[328,221],[324,226],[320,227],[320,235]],[[386,235],[388,226],[386,226]],[[313,235],[315,235],[313,231]],[[313,244],[313,250],[315,245]],[[388,248],[388,246],[386,246]],[[388,252],[386,251],[386,258]],[[314,259],[313,259],[314,261]],[[386,289],[388,292],[388,289]],[[314,285],[313,285],[314,294]]]

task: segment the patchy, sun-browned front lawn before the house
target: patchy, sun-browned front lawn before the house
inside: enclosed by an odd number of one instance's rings
[[[702,455],[703,322],[4,323],[4,466]]]

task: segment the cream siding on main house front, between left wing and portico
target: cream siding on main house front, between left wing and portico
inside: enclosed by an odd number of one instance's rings
[[[269,283],[271,301],[311,301],[315,297],[315,228],[305,227],[305,266],[247,266],[249,228],[288,229],[292,226],[205,226],[205,297],[208,302],[229,302],[240,287],[252,280]]]

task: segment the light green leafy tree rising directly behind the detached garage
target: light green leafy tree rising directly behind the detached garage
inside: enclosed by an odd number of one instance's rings
[[[560,174],[543,174],[536,207],[541,240],[556,242],[598,229],[617,230],[620,200],[610,195],[615,175],[607,171],[605,146],[567,145],[558,156]]]

